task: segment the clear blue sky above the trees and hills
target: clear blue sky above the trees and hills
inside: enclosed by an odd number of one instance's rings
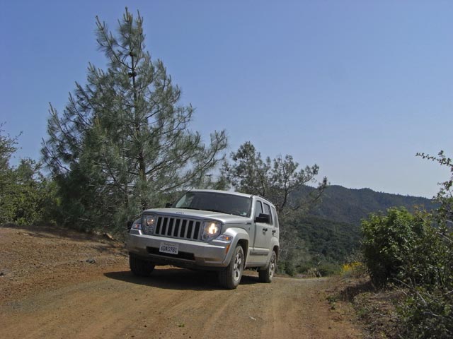
[[[318,164],[331,184],[431,197],[453,155],[452,1],[6,1],[0,121],[39,159],[49,102],[62,112],[88,62],[95,16],[144,17],[147,48],[196,107],[192,129],[230,150]],[[321,179],[321,177],[320,177]]]

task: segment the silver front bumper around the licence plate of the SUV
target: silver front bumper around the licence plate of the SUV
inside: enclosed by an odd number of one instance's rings
[[[178,254],[160,253],[162,242],[178,245]],[[130,230],[126,249],[130,255],[151,261],[154,265],[174,265],[190,268],[215,269],[228,266],[231,242],[212,240],[197,242],[188,239],[157,237]]]

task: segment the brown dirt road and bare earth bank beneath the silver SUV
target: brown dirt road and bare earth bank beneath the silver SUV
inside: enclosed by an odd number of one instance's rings
[[[246,271],[236,290],[169,266],[130,273],[121,244],[52,229],[0,227],[2,338],[363,338],[330,279]]]

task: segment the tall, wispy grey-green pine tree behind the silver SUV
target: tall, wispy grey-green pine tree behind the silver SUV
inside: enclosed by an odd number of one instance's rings
[[[226,148],[224,131],[205,145],[188,129],[193,107],[179,105],[181,89],[147,52],[142,16],[126,8],[118,23],[114,35],[96,17],[108,68],[89,64],[86,85],[76,83],[61,116],[50,106],[42,155],[72,221],[118,222],[198,186]]]

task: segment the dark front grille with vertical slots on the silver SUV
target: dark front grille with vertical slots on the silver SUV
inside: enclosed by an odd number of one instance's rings
[[[201,221],[158,215],[154,232],[149,227],[144,227],[143,230],[145,234],[149,235],[199,240]]]

